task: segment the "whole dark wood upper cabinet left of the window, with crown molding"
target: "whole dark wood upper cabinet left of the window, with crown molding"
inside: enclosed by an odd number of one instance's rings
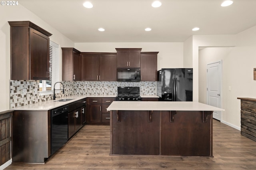
[[[52,34],[30,21],[9,21],[11,79],[50,79],[50,38]]]

